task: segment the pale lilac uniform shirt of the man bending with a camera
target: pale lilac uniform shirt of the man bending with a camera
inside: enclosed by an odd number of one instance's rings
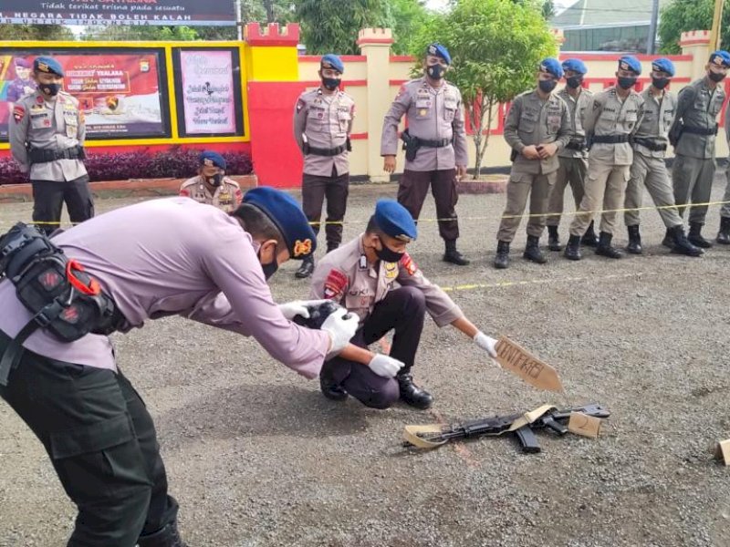
[[[305,377],[318,376],[329,336],[281,314],[258,262],[258,245],[225,212],[189,198],[144,201],[82,222],[53,241],[99,280],[130,328],[183,315],[254,336],[276,360]],[[0,283],[0,310],[6,335],[17,335],[31,318],[8,280]],[[108,336],[65,344],[37,330],[23,346],[69,363],[115,368]]]

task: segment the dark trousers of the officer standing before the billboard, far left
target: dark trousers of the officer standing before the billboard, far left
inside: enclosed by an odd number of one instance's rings
[[[89,191],[89,175],[73,181],[30,182],[33,186],[33,222],[36,222],[41,232],[49,235],[58,228],[64,201],[72,223],[88,221],[94,216],[94,198]]]

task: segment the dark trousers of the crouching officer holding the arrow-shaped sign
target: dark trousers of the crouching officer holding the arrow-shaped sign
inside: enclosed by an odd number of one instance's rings
[[[390,356],[405,366],[408,372],[413,366],[421,341],[426,298],[420,289],[400,287],[393,289],[373,307],[365,322],[349,341],[355,346],[367,347],[394,330]],[[332,379],[363,405],[372,408],[388,408],[401,395],[398,380],[380,377],[367,365],[335,357],[324,365]]]

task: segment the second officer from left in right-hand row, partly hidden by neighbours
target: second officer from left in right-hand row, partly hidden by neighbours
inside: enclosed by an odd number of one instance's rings
[[[550,191],[550,201],[547,205],[547,248],[550,251],[562,251],[558,235],[560,215],[563,212],[565,188],[570,185],[576,209],[583,199],[583,187],[588,171],[588,147],[586,146],[586,131],[583,129],[583,118],[586,108],[590,107],[593,93],[583,88],[583,77],[588,73],[588,67],[580,59],[566,59],[562,64],[565,73],[565,88],[558,91],[568,106],[568,123],[570,125],[570,140],[565,148],[558,150],[558,174],[555,185]],[[593,231],[593,221],[583,236],[583,244],[595,247],[598,237]]]

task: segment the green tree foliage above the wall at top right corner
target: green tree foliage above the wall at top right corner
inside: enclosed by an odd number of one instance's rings
[[[662,9],[659,40],[662,53],[680,53],[679,40],[688,30],[707,30],[713,25],[714,0],[673,0]],[[721,43],[730,44],[730,9],[725,7]]]

